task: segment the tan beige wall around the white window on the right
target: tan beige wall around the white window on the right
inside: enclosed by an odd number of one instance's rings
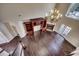
[[[73,44],[74,46],[79,46],[79,21],[76,21],[74,19],[65,17],[65,14],[67,12],[67,9],[70,4],[57,4],[56,8],[60,10],[60,12],[63,14],[63,17],[61,20],[57,22],[57,25],[55,26],[54,30],[58,31],[61,24],[65,24],[67,26],[70,26],[72,28],[71,32],[68,34],[66,39]]]

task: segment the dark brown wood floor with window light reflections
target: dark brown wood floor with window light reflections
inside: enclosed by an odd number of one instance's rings
[[[11,53],[20,39],[16,37],[10,43],[1,45],[0,47]],[[24,49],[25,56],[64,56],[75,49],[74,46],[56,32],[35,32],[32,39],[29,36],[25,36],[21,40],[26,46],[26,49]]]

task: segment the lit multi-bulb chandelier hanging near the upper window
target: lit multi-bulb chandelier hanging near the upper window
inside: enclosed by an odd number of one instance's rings
[[[51,10],[47,15],[47,19],[50,19],[52,22],[57,22],[61,17],[62,14],[58,9]]]

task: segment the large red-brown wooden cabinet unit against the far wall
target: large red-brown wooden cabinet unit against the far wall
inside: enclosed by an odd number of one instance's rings
[[[37,30],[40,27],[40,31],[45,31],[46,29],[46,20],[44,18],[35,18],[30,19],[29,22],[24,22],[24,26],[26,28],[26,31],[28,32],[28,35],[34,34],[34,28],[37,28]]]

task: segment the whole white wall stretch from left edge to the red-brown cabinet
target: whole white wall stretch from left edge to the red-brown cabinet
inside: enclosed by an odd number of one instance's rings
[[[12,26],[16,28],[17,32],[12,28]],[[10,21],[4,23],[2,22],[0,23],[0,30],[8,39],[8,42],[10,42],[15,36],[17,36],[17,34],[19,34],[21,38],[23,38],[26,35],[26,31],[23,26],[23,21]]]

